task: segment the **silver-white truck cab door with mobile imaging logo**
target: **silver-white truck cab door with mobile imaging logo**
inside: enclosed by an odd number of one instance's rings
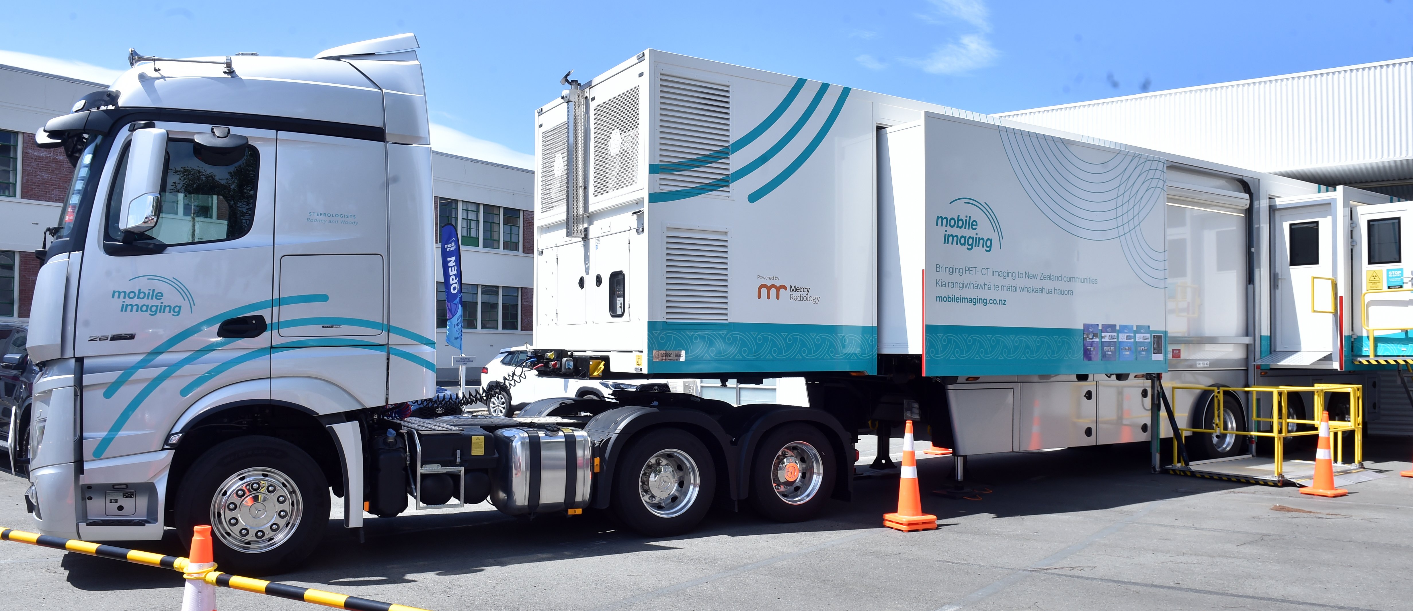
[[[172,421],[212,389],[250,381],[243,398],[268,397],[270,333],[256,330],[273,320],[276,133],[233,127],[249,144],[211,154],[194,138],[213,126],[157,127],[167,130],[157,226],[127,243],[117,229],[123,130],[83,248],[73,353],[89,384],[89,459],[160,449]]]

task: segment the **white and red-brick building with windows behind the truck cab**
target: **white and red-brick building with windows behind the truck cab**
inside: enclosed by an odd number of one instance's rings
[[[0,65],[0,320],[30,316],[44,229],[58,224],[72,165],[62,150],[34,145],[34,131],[65,114],[81,96],[107,85]],[[530,341],[534,320],[534,172],[432,151],[432,192],[438,227],[459,229],[466,308],[466,354],[489,360],[503,347]],[[428,244],[435,250],[435,244]],[[441,277],[435,282],[438,295]],[[438,305],[439,326],[445,313]],[[437,378],[456,380],[437,333]],[[468,380],[480,370],[468,370]]]

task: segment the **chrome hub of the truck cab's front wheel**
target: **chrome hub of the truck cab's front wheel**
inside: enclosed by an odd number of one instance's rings
[[[227,548],[266,552],[298,529],[304,500],[294,480],[274,468],[244,468],[211,500],[211,531]]]

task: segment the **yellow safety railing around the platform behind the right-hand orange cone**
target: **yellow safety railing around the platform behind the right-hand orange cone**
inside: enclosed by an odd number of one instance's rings
[[[1311,387],[1198,387],[1187,384],[1171,384],[1164,387],[1173,391],[1210,391],[1212,392],[1212,425],[1211,429],[1188,429],[1178,428],[1181,433],[1207,433],[1207,435],[1238,435],[1248,437],[1270,437],[1275,440],[1275,463],[1276,463],[1276,477],[1279,478],[1283,473],[1284,466],[1284,452],[1286,452],[1286,437],[1299,436],[1318,436],[1320,435],[1320,416],[1325,412],[1330,405],[1327,394],[1342,392],[1349,397],[1349,419],[1348,421],[1330,421],[1330,436],[1334,437],[1335,461],[1344,463],[1344,433],[1354,432],[1354,461],[1364,461],[1364,387],[1358,384],[1316,384]],[[1248,421],[1248,430],[1228,430],[1225,429],[1225,409],[1226,409],[1226,395],[1232,392],[1248,392],[1253,399],[1251,405],[1258,406],[1262,394],[1270,394],[1272,413],[1269,418],[1260,416],[1258,409],[1251,411],[1251,419]],[[1314,394],[1314,413],[1311,419],[1290,418],[1290,394],[1291,392],[1313,392]],[[1269,422],[1270,430],[1258,430],[1258,422]],[[1308,425],[1308,430],[1296,430],[1297,425]],[[1180,435],[1181,435],[1180,433]],[[1173,464],[1178,463],[1177,443],[1173,443]]]

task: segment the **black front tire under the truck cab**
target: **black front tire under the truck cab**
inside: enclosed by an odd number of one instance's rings
[[[239,485],[218,490],[227,480],[244,473],[252,473],[253,477],[240,480]],[[257,485],[261,480],[273,488],[270,492],[244,491],[246,487]],[[278,492],[287,492],[285,488],[295,494],[280,495]],[[252,509],[237,505],[240,508],[232,512],[230,518],[223,518],[227,514],[216,514],[218,494],[230,501],[235,501],[235,495],[240,494],[240,498],[246,498],[240,505],[252,507]],[[192,526],[209,524],[212,526],[212,552],[223,573],[261,576],[294,569],[319,545],[329,521],[329,484],[324,471],[309,454],[292,443],[266,436],[230,439],[206,450],[192,463],[175,497],[177,533],[181,536],[182,549],[191,549]],[[270,502],[268,509],[253,508],[253,505],[264,502]],[[284,519],[284,515],[277,514],[277,511],[284,511],[277,509],[281,507],[290,508],[291,519]],[[274,516],[268,519],[268,524],[274,526],[264,526],[271,528],[270,539],[254,545],[268,545],[276,538],[280,538],[280,542],[270,549],[257,552],[235,549],[227,545],[227,540],[239,538],[236,528],[253,528],[264,522],[252,518],[249,525],[239,522],[240,526],[230,526],[220,519],[236,519],[235,515],[244,519],[247,514],[254,511],[261,511],[263,515],[259,519],[264,519],[266,515]],[[268,514],[264,514],[266,511]],[[280,528],[281,519],[284,519],[285,531],[277,532],[274,528]],[[257,529],[256,532],[264,531]]]

